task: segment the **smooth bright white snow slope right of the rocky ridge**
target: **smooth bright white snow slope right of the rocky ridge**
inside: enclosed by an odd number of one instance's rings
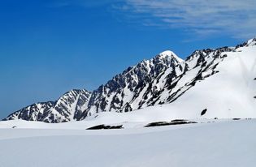
[[[226,58],[216,66],[218,73],[197,81],[171,104],[144,110],[165,112],[171,118],[255,118],[256,47],[237,48],[221,55]],[[203,71],[202,75],[209,73],[212,71]],[[184,75],[183,78],[191,81],[194,77]],[[183,85],[180,84],[181,87]],[[204,109],[207,111],[201,116]]]

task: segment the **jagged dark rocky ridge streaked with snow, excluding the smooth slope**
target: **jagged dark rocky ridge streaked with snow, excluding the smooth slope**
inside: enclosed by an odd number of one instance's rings
[[[217,74],[216,67],[227,58],[227,53],[239,52],[239,48],[255,44],[256,38],[236,47],[197,50],[185,60],[165,51],[128,67],[93,92],[72,90],[57,101],[29,105],[4,120],[79,121],[99,112],[122,113],[170,104],[195,87],[197,82]]]

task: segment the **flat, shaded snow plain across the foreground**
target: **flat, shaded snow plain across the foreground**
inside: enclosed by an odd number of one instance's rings
[[[17,126],[18,122],[1,122],[0,166],[240,167],[256,164],[255,119],[207,122],[97,131],[79,130],[75,126],[73,130],[46,128],[53,124],[42,122],[19,122],[37,129],[12,129],[7,128],[7,124]]]

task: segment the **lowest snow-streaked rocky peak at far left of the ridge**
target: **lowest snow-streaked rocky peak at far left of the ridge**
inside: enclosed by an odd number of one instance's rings
[[[68,122],[80,115],[86,109],[91,92],[72,90],[66,92],[57,101],[48,101],[29,105],[15,113],[11,113],[5,120],[24,119],[41,122]]]

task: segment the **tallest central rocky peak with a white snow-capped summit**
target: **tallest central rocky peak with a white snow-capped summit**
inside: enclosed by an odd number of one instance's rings
[[[93,92],[89,108],[83,118],[102,111],[128,112],[141,109],[142,105],[154,95],[152,83],[170,67],[177,66],[182,59],[171,51],[158,54],[155,58],[144,60],[136,66],[130,66],[123,73],[116,75],[105,85]],[[157,85],[157,84],[155,84]]]

